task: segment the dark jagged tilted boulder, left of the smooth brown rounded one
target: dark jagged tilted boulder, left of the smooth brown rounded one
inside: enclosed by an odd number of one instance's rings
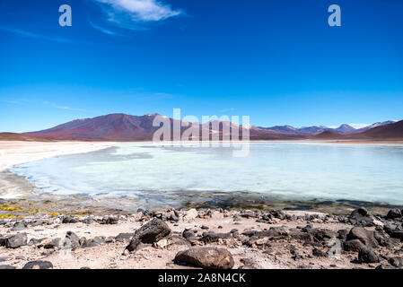
[[[140,243],[158,242],[171,233],[167,223],[154,218],[151,222],[145,223],[140,229],[136,230],[135,236],[131,239],[127,250],[134,251]]]

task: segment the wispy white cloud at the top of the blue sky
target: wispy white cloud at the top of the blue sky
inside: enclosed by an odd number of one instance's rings
[[[146,30],[146,24],[160,22],[171,17],[178,16],[183,12],[171,8],[158,0],[92,0],[101,4],[107,21],[127,30]],[[92,22],[93,24],[93,22]],[[92,27],[109,35],[116,35],[113,30]]]

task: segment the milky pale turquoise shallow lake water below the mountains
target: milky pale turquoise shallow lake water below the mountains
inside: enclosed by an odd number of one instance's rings
[[[280,200],[403,204],[403,146],[250,143],[232,148],[119,143],[114,148],[25,163],[13,172],[40,193],[125,196],[153,206],[187,195],[260,193]]]

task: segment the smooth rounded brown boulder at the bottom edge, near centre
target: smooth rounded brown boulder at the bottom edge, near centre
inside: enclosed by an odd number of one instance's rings
[[[178,264],[188,264],[204,269],[231,269],[234,261],[225,248],[192,248],[179,252],[175,257]]]

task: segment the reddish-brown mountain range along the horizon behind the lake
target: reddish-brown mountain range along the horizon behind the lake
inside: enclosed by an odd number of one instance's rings
[[[0,140],[76,140],[76,141],[150,141],[154,132],[159,129],[153,126],[155,117],[164,117],[159,114],[144,116],[130,116],[126,114],[110,114],[101,117],[76,119],[74,121],[37,132],[0,134]],[[180,120],[164,117],[171,124],[171,131]],[[182,122],[183,123],[183,122]],[[199,135],[232,136],[238,129],[242,134],[241,126],[231,122],[211,121],[205,124],[188,123],[188,126],[198,125]],[[181,127],[180,134],[188,129]],[[371,126],[355,129],[353,126],[341,125],[337,128],[328,126],[248,126],[250,140],[287,140],[287,139],[403,139],[403,121],[386,121]],[[171,132],[172,135],[172,132]]]

